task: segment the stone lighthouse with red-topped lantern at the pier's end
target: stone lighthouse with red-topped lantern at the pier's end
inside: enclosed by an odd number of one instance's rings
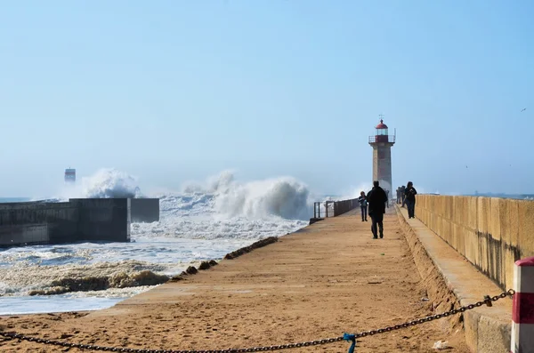
[[[387,125],[380,115],[380,124],[376,125],[375,136],[369,136],[369,145],[373,148],[373,181],[380,181],[384,190],[389,190],[392,197],[392,146],[396,133],[388,135]]]

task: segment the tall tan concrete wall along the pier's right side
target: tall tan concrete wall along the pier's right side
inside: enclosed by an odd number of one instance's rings
[[[417,195],[416,217],[503,289],[534,256],[534,201]]]

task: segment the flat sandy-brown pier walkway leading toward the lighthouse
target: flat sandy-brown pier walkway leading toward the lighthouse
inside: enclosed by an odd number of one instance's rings
[[[110,309],[1,317],[4,331],[135,349],[228,349],[312,341],[434,314],[392,208],[384,239],[356,213],[320,221],[279,242]],[[467,352],[440,322],[360,339],[356,352]],[[346,352],[346,341],[287,352]],[[0,350],[62,348],[0,341]],[[67,351],[67,350],[63,350]],[[79,351],[69,349],[69,351]]]

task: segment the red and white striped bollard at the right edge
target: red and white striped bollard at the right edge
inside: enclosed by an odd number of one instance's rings
[[[534,349],[534,257],[515,261],[511,353]]]

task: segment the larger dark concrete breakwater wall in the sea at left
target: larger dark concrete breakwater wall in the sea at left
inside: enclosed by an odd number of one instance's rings
[[[129,240],[127,198],[0,204],[0,246]]]

